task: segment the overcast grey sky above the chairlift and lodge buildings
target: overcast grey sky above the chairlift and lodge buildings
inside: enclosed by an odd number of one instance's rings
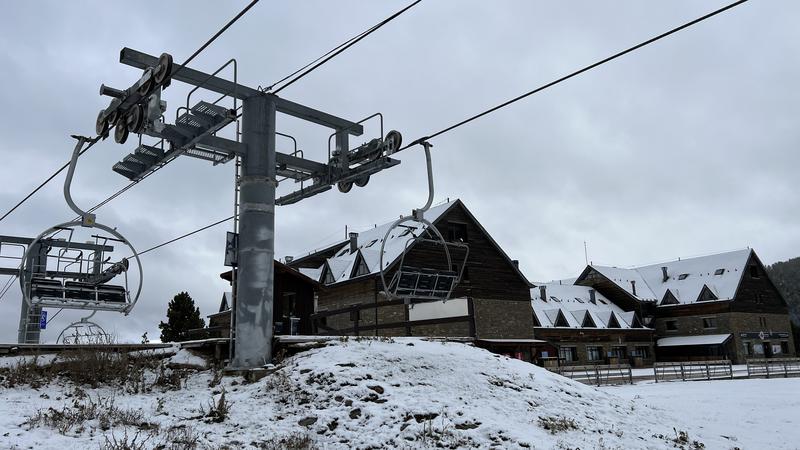
[[[211,72],[236,58],[240,82],[269,85],[406,3],[262,1],[191,66]],[[68,159],[70,134],[93,135],[108,104],[98,95],[102,83],[126,88],[141,75],[118,63],[122,47],[183,61],[245,4],[4,4],[3,211]],[[386,129],[410,142],[724,4],[428,0],[280,95],[352,120],[380,111]],[[532,281],[576,276],[584,241],[591,261],[617,266],[747,246],[767,264],[800,255],[798,13],[797,2],[751,1],[436,138],[437,201],[461,198]],[[165,91],[170,120],[187,92],[182,83]],[[327,154],[324,128],[279,117],[278,130],[295,136],[308,158]],[[378,132],[375,124],[365,131],[364,140]],[[132,141],[109,139],[80,159],[79,205],[126,184],[111,165]],[[289,142],[279,150],[291,151]],[[421,206],[423,154],[399,159],[365,188],[279,207],[276,256]],[[233,170],[179,158],[100,209],[98,221],[148,248],[231,215]],[[72,218],[62,182],[63,175],[0,223],[0,234],[35,236]],[[96,321],[121,340],[144,331],[157,338],[167,302],[181,290],[204,315],[216,312],[229,289],[219,278],[229,228],[144,255],[135,310]],[[17,288],[0,300],[0,341],[16,339],[19,304]],[[44,339],[54,341],[78,317],[61,314]]]

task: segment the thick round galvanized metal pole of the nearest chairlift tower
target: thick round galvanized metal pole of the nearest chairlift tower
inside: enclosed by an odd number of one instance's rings
[[[272,360],[275,255],[275,97],[244,100],[236,281],[236,347],[232,367],[261,367]]]

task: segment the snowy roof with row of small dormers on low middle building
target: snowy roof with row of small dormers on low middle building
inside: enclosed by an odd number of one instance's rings
[[[545,288],[546,299],[542,299],[541,286]],[[568,328],[584,328],[587,316],[594,327],[586,328],[639,328],[635,323],[635,313],[623,311],[599,292],[594,294],[594,302],[588,286],[559,283],[539,283],[531,289],[531,307],[541,327],[555,328],[559,315],[564,318]],[[587,323],[588,325],[588,323]]]

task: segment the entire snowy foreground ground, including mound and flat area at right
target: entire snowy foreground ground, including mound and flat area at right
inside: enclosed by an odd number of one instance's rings
[[[170,362],[200,363],[185,351]],[[146,448],[176,441],[198,448],[305,442],[320,448],[538,449],[692,449],[700,443],[707,449],[762,449],[800,442],[787,423],[796,420],[798,399],[786,394],[800,391],[798,379],[598,390],[468,345],[413,338],[334,341],[286,359],[253,383],[241,377],[219,381],[213,370],[199,370],[179,390],[169,390],[170,383],[155,384],[159,375],[165,373],[149,372],[133,390],[78,389],[63,379],[7,387],[0,380],[0,448],[98,448],[125,432],[147,439]],[[735,383],[751,384],[737,389]],[[756,394],[738,392],[751,388],[775,394],[758,403]],[[229,411],[209,414],[223,392]],[[684,410],[680,398],[686,396],[691,399],[683,401]],[[118,410],[111,419],[61,429],[44,420],[92,404],[108,409],[110,402]],[[37,412],[40,420],[31,420]],[[751,415],[756,417],[748,422]]]

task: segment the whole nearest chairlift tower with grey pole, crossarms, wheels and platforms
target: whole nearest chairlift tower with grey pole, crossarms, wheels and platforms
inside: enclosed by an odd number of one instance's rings
[[[236,80],[236,62],[231,60],[214,73],[206,74],[173,64],[172,57],[157,58],[130,48],[122,49],[120,62],[143,70],[142,77],[126,90],[102,86],[100,93],[113,97],[108,108],[97,117],[97,132],[104,138],[113,128],[115,140],[124,143],[129,133],[161,139],[161,146],[140,144],[134,152],[114,165],[113,170],[130,180],[141,180],[176,157],[185,155],[224,163],[240,157],[238,180],[239,236],[236,261],[236,299],[232,305],[232,339],[236,346],[231,368],[248,369],[263,366],[272,359],[273,286],[275,205],[288,205],[325,192],[337,185],[348,192],[353,184],[364,186],[372,174],[395,166],[399,160],[389,156],[400,149],[400,133],[383,134],[354,149],[350,136],[361,136],[361,122],[352,122],[277,95],[241,85]],[[234,80],[217,74],[233,64]],[[172,81],[194,86],[187,96],[184,110],[174,124],[166,123],[166,103],[161,90]],[[191,94],[205,89],[220,94],[213,103],[198,102],[190,107]],[[233,99],[234,107],[219,105],[222,99]],[[238,114],[241,102],[241,114]],[[329,144],[328,161],[305,159],[297,152],[276,150],[275,119],[287,114],[332,130],[335,148]],[[227,125],[241,119],[241,142],[216,136]],[[364,120],[367,120],[364,119]],[[299,189],[276,199],[280,181],[293,180]]]

